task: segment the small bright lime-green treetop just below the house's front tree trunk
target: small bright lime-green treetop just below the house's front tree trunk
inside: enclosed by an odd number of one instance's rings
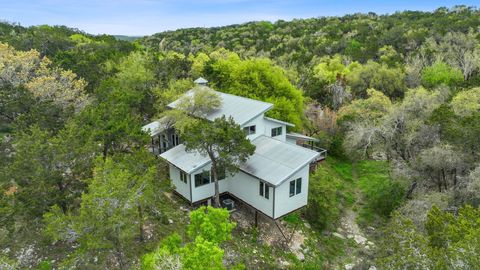
[[[202,206],[190,213],[188,236],[191,239],[201,236],[215,244],[230,240],[235,224],[228,220],[229,216],[226,209]]]

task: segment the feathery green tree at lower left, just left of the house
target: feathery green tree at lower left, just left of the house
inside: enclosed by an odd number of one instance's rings
[[[76,241],[81,264],[89,265],[89,255],[96,254],[107,265],[107,258],[113,256],[120,269],[127,269],[132,247],[137,239],[143,241],[145,209],[160,203],[151,158],[148,153],[137,153],[97,160],[78,213],[63,214],[52,207],[44,215],[46,235],[54,241]]]

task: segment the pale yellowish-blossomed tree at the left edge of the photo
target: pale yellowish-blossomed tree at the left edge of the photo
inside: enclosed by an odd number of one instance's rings
[[[35,51],[0,43],[0,119],[56,131],[88,103],[85,81]]]

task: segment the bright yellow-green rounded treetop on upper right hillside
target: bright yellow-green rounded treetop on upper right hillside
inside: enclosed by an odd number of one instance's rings
[[[455,86],[463,81],[462,72],[448,64],[437,62],[422,71],[422,84],[433,88],[442,84]]]

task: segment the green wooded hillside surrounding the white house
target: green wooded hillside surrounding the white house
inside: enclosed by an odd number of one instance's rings
[[[0,23],[0,269],[477,269],[479,16],[456,6],[146,37]],[[328,150],[305,167],[305,207],[256,222],[245,205],[177,194],[142,126],[166,119],[220,161],[181,170],[190,187],[255,150],[234,120],[200,120],[217,94],[182,98],[199,77],[273,104],[265,116]],[[255,183],[252,196],[275,198]]]

